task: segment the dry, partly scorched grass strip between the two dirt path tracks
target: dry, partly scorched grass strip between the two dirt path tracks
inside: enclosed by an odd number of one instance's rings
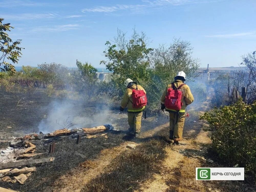
[[[82,191],[133,191],[141,182],[159,173],[165,158],[165,144],[151,140],[116,157],[104,174],[83,187]]]

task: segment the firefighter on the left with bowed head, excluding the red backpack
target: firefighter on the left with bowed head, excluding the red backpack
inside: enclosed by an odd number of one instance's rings
[[[146,94],[145,89],[140,86],[136,85],[136,82],[133,82],[132,79],[126,79],[124,82],[124,85],[127,87],[127,89],[124,92],[124,96],[121,102],[120,111],[123,111],[125,107],[127,107],[128,112],[128,124],[130,128],[128,129],[130,133],[134,133],[135,137],[139,136],[140,129],[141,129],[141,117],[142,117],[142,111],[145,109],[145,106],[141,108],[134,108],[132,103],[132,89],[135,89],[136,86],[138,90],[143,90]]]

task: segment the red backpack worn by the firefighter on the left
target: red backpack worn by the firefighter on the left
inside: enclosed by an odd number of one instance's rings
[[[143,90],[138,90],[136,85],[136,89],[129,87],[132,89],[132,106],[133,108],[141,108],[147,105],[147,97],[146,93]]]

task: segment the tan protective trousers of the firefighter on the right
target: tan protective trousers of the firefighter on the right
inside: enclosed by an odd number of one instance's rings
[[[173,131],[174,141],[182,140],[183,126],[185,122],[185,115],[181,115],[179,118],[178,113],[169,112],[170,117],[170,131]]]

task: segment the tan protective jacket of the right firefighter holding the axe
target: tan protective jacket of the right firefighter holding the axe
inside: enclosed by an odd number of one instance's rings
[[[183,84],[183,82],[181,80],[174,81],[175,87],[179,87],[181,84]],[[167,87],[162,95],[162,98],[161,98],[162,104],[165,103],[165,96],[167,95],[167,89],[169,89],[171,87],[172,87],[172,84],[167,85]],[[193,97],[188,85],[183,85],[182,88],[180,88],[179,90],[182,92],[181,101],[183,103],[179,112],[185,113],[186,106],[190,105],[194,101],[194,97]],[[166,108],[166,111],[176,111],[176,110]]]

